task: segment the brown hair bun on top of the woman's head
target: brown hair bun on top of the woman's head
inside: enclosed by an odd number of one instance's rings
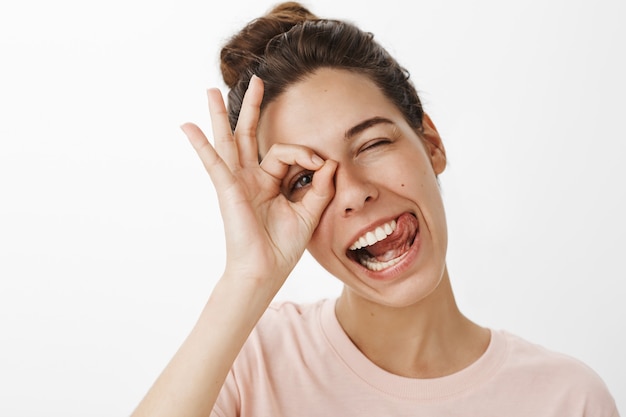
[[[272,38],[298,23],[316,19],[317,16],[300,3],[285,2],[248,23],[224,45],[220,53],[220,70],[226,85],[233,88],[242,75],[254,68]]]

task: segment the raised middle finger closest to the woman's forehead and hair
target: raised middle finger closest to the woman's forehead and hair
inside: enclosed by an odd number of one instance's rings
[[[235,128],[235,138],[239,145],[239,161],[242,166],[259,163],[256,129],[261,113],[263,91],[263,81],[253,75],[243,97],[239,120]]]

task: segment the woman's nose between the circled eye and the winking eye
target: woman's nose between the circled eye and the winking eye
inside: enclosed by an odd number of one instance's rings
[[[344,216],[362,210],[378,198],[378,189],[364,168],[340,164],[335,172],[335,201]]]

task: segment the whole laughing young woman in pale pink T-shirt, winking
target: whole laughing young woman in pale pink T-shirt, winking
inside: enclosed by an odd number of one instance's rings
[[[217,189],[226,268],[136,416],[618,416],[585,365],[457,308],[444,146],[370,34],[284,3],[231,39],[222,73],[214,145],[183,130]],[[271,304],[305,249],[343,292]]]

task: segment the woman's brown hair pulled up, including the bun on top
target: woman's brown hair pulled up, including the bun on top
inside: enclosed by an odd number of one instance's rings
[[[232,129],[253,74],[265,84],[263,108],[291,84],[323,67],[366,75],[398,106],[407,122],[421,130],[422,105],[409,73],[374,36],[347,22],[319,19],[295,2],[279,4],[248,23],[222,49]]]

